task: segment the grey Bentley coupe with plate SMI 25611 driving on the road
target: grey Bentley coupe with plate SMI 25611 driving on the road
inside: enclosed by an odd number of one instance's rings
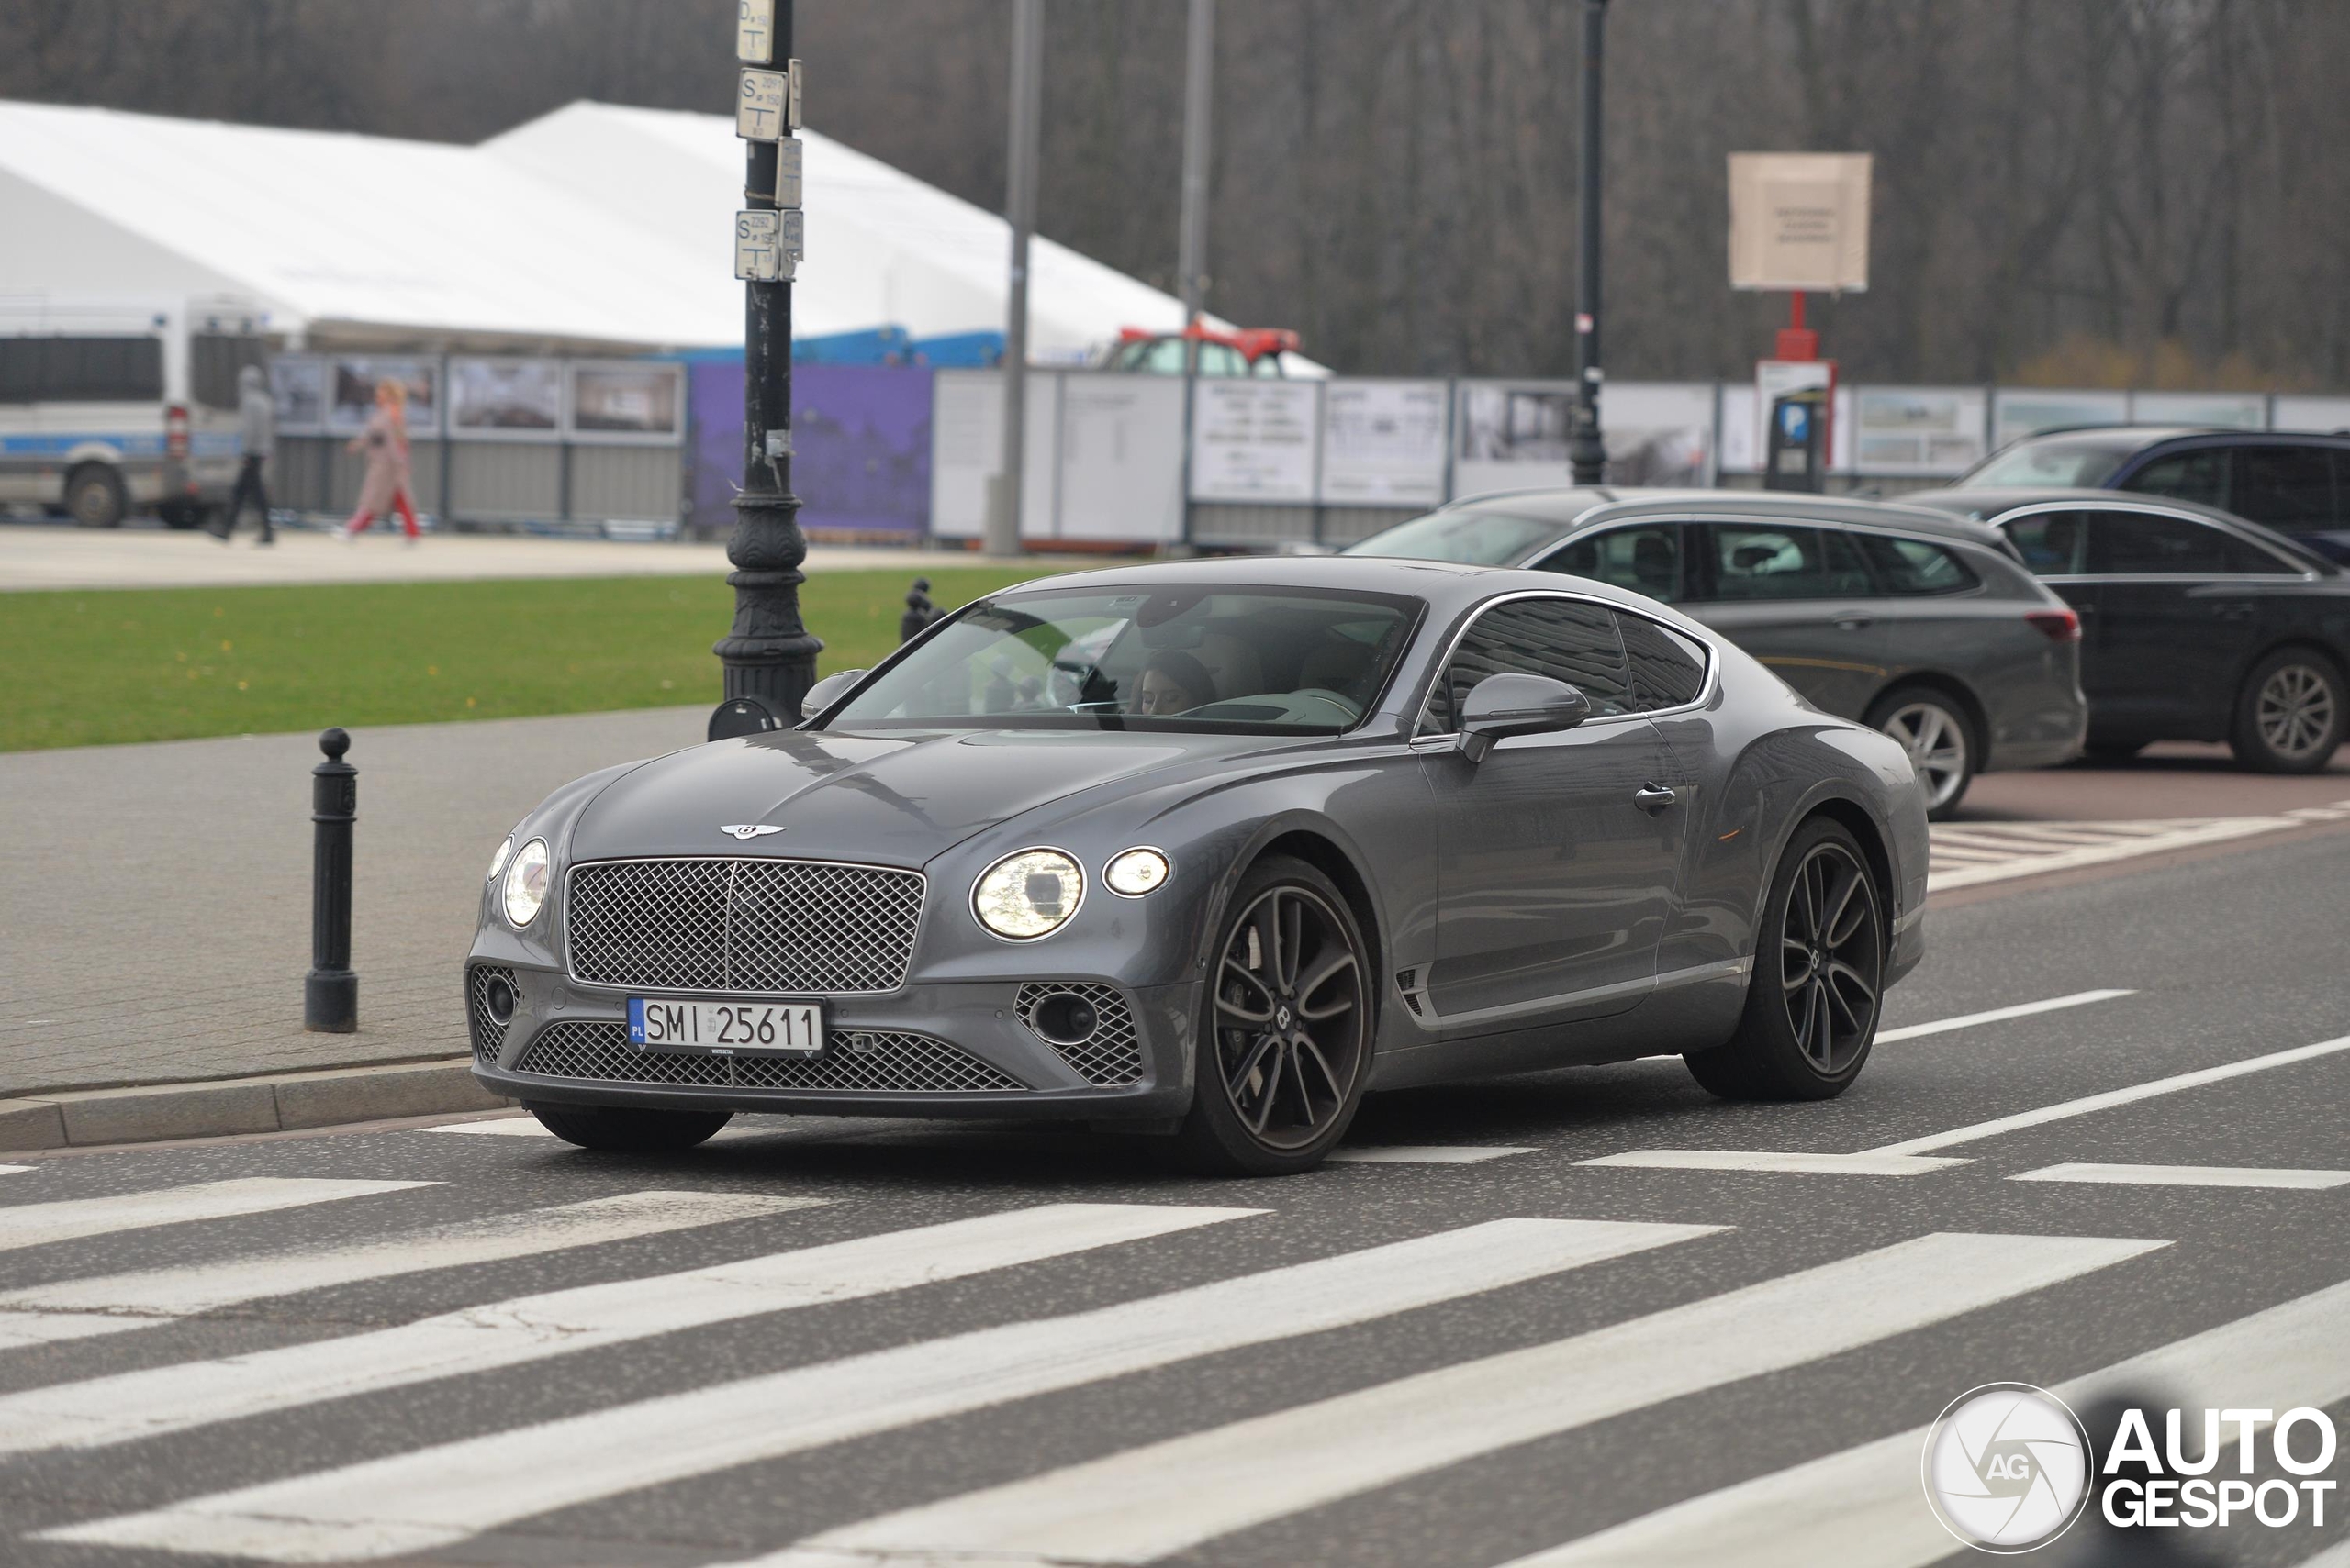
[[[1053,1117],[1278,1174],[1365,1089],[1680,1054],[1840,1094],[1925,876],[1901,744],[1652,599],[1189,561],[1008,589],[797,730],[555,791],[465,998],[479,1080],[588,1148]]]

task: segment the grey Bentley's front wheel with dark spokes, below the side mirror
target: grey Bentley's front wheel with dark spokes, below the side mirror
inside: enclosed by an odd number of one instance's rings
[[[1337,885],[1285,854],[1250,866],[1210,948],[1182,1162],[1203,1176],[1321,1164],[1363,1103],[1375,1000]]]

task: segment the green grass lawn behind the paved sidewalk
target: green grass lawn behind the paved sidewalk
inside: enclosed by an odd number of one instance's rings
[[[931,570],[945,608],[1022,568]],[[818,669],[898,646],[912,570],[815,573]],[[719,699],[719,577],[0,594],[0,751]]]

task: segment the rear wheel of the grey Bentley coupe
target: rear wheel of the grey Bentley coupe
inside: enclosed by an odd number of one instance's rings
[[[1739,1030],[1685,1056],[1690,1075],[1732,1101],[1835,1099],[1875,1045],[1885,955],[1868,857],[1840,822],[1812,817],[1772,873]]]

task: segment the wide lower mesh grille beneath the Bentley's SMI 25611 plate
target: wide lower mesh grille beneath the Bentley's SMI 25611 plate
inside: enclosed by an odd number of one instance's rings
[[[550,1023],[517,1073],[606,1084],[785,1089],[815,1094],[1003,1094],[1027,1084],[928,1035],[839,1033],[822,1056],[670,1056],[639,1052],[625,1023]]]

